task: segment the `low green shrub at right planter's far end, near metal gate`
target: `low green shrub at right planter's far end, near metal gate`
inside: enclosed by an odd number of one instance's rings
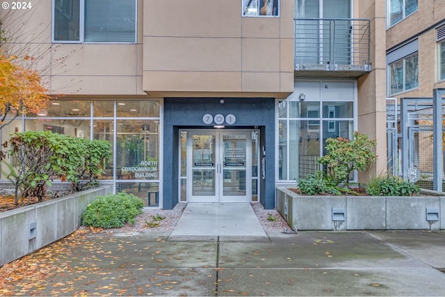
[[[375,177],[366,185],[366,193],[373,196],[412,196],[419,191],[416,184],[394,176]]]

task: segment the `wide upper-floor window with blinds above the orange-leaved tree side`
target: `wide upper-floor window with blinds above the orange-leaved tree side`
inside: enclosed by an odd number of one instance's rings
[[[136,42],[136,0],[54,0],[54,42]]]

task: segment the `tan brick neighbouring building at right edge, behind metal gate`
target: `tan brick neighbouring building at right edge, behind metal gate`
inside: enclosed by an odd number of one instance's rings
[[[389,150],[395,174],[433,188],[433,89],[445,88],[445,7],[440,1],[387,1],[387,96],[405,103]],[[407,113],[407,115],[406,115]],[[442,111],[443,113],[443,111]],[[443,147],[442,147],[443,150]],[[390,157],[389,157],[390,158]],[[398,163],[398,164],[397,164]],[[442,167],[443,168],[443,167]],[[442,170],[443,171],[443,170]],[[439,177],[442,180],[443,172]]]

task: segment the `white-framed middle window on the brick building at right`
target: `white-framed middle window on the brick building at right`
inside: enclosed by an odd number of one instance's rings
[[[419,87],[419,59],[414,53],[388,65],[389,95]]]

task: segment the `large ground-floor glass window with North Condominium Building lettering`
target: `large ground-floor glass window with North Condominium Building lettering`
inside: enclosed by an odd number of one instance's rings
[[[1,129],[0,136],[4,143],[15,131],[52,131],[108,141],[113,156],[106,160],[98,179],[113,183],[116,191],[133,193],[145,201],[145,206],[154,207],[159,206],[160,108],[157,100],[135,98],[51,100],[47,109],[38,113],[6,118],[5,122],[11,123]],[[13,159],[7,156],[6,161],[12,163]],[[0,169],[7,172],[8,166],[3,163]]]

